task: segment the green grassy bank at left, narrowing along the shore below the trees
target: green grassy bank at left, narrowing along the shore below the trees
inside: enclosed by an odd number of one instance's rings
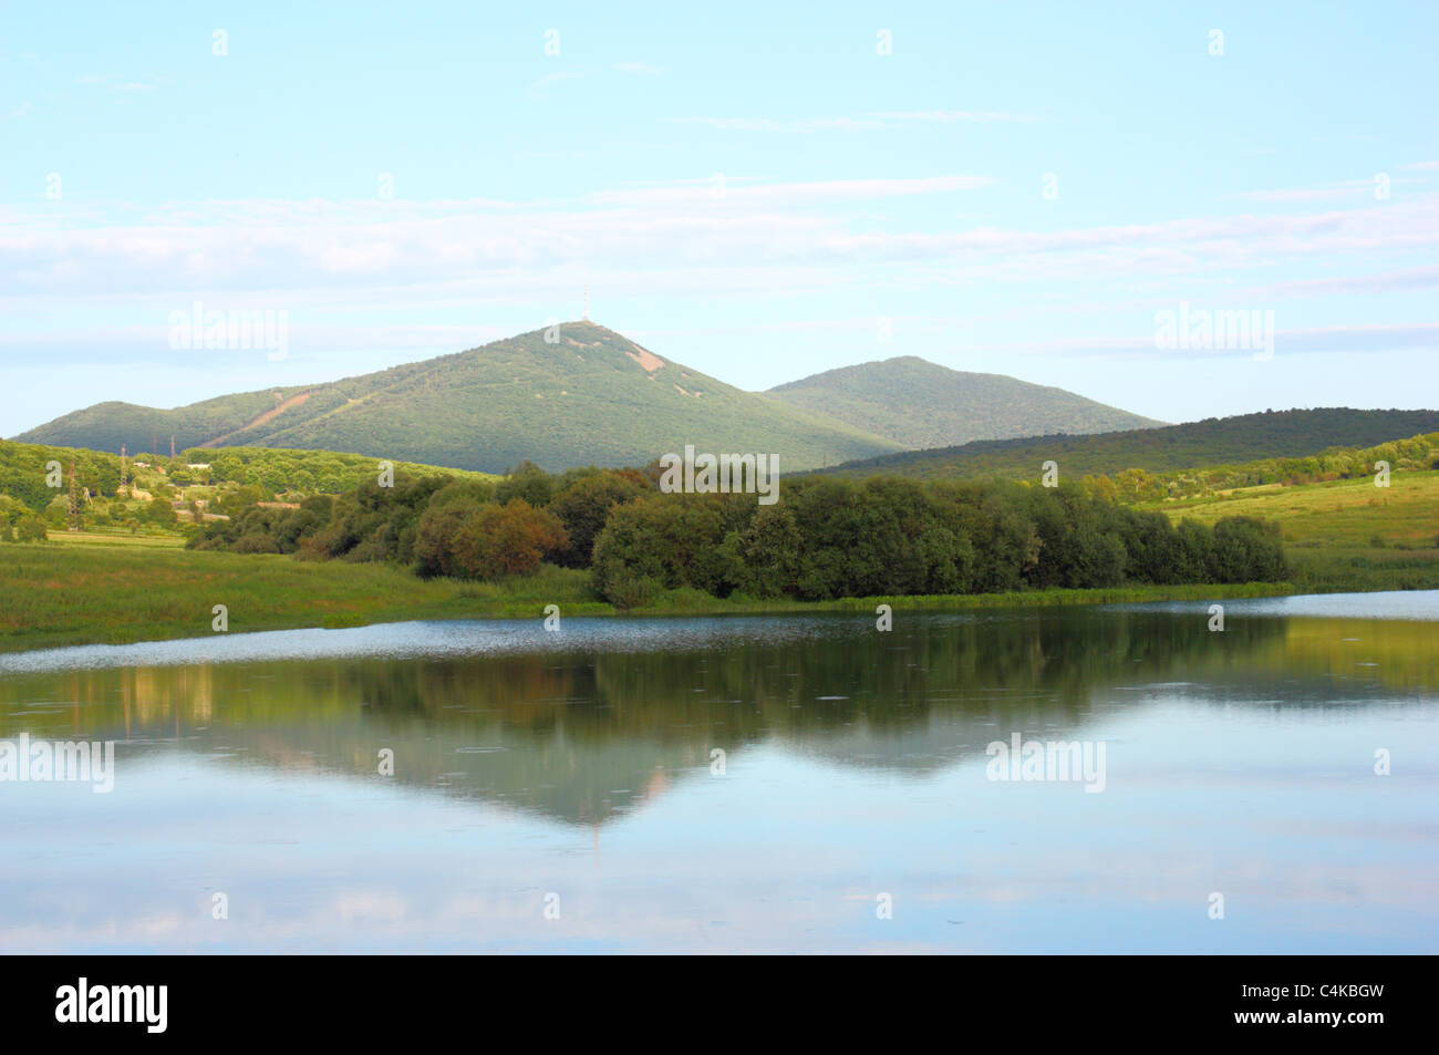
[[[1286,583],[1134,586],[938,597],[848,597],[833,602],[718,599],[671,590],[630,615],[790,612],[958,612],[987,607],[1206,600],[1294,593]],[[0,547],[0,651],[127,645],[216,633],[364,626],[412,619],[543,619],[616,615],[589,587],[589,573],[543,566],[499,583],[422,580],[387,564],[311,563],[283,556],[196,553],[104,541]]]

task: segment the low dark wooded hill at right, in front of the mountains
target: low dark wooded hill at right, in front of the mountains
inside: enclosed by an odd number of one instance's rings
[[[1125,469],[1176,472],[1265,458],[1307,458],[1331,448],[1377,446],[1436,429],[1439,410],[1266,410],[1099,436],[1029,436],[937,450],[905,450],[849,462],[830,472],[920,479],[1038,479],[1040,466],[1055,461],[1062,478],[1079,479]]]

